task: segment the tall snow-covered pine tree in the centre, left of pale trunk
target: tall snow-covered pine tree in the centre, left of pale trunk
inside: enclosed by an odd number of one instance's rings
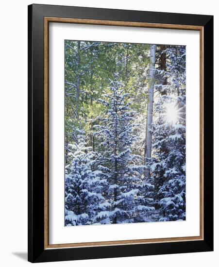
[[[135,112],[130,108],[129,94],[122,89],[122,84],[115,75],[110,83],[110,93],[103,96],[101,103],[107,107],[107,114],[97,125],[97,137],[101,140],[99,168],[101,177],[109,187],[105,192],[108,199],[105,210],[97,214],[101,223],[128,223],[147,220],[151,199],[145,193],[152,188],[143,183],[144,166],[138,165],[142,159],[132,153],[136,140]]]

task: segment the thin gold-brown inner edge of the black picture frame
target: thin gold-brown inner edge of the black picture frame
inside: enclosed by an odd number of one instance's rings
[[[49,23],[76,23],[126,27],[193,30],[200,32],[200,235],[171,238],[101,241],[69,244],[49,244]],[[133,245],[203,240],[203,27],[194,25],[44,17],[44,249]]]

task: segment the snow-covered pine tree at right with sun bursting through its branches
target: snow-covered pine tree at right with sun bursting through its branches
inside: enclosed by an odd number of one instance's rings
[[[185,47],[165,53],[167,69],[156,71],[165,85],[155,86],[160,95],[154,104],[150,166],[160,220],[171,221],[185,219]]]

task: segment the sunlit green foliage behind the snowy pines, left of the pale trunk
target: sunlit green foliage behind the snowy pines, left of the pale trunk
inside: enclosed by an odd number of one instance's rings
[[[145,113],[149,45],[88,41],[65,41],[66,145],[74,143],[74,129],[83,129],[95,146],[93,125],[104,113],[98,102],[110,80],[119,73],[133,98],[132,108]],[[78,93],[78,95],[77,95]]]

